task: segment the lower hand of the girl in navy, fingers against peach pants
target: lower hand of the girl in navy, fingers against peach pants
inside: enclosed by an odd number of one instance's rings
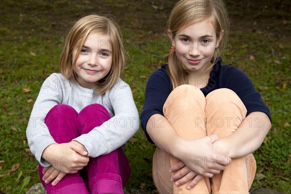
[[[198,175],[193,170],[188,168],[186,164],[182,161],[179,161],[174,166],[170,168],[170,173],[174,173],[171,180],[176,181],[176,185],[179,187],[188,181],[192,180],[188,185],[187,189],[192,189],[202,178],[202,175]]]

